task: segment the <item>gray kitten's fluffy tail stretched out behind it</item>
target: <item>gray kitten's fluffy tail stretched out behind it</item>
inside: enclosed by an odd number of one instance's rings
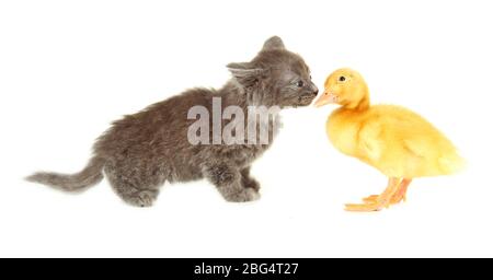
[[[39,172],[28,177],[26,180],[41,183],[66,191],[77,191],[91,187],[103,179],[104,161],[93,158],[88,166],[79,173],[68,175],[58,173]]]

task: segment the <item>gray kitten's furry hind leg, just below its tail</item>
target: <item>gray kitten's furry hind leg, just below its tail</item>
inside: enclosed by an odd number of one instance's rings
[[[141,187],[136,178],[127,178],[112,168],[105,168],[105,174],[116,194],[131,206],[151,207],[158,198],[158,187]]]

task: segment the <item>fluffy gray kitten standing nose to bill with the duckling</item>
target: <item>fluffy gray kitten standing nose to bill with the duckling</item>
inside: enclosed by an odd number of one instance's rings
[[[116,194],[139,207],[151,206],[164,182],[200,178],[214,184],[227,201],[257,199],[260,186],[250,166],[270,143],[192,144],[187,131],[195,120],[187,112],[197,105],[211,112],[213,97],[220,97],[222,107],[239,106],[245,115],[252,105],[307,106],[318,89],[302,58],[288,51],[279,37],[265,42],[252,61],[230,63],[228,69],[233,78],[220,90],[190,90],[115,121],[96,140],[83,171],[36,173],[27,179],[77,191],[101,182],[104,171]],[[270,128],[270,135],[274,132]]]

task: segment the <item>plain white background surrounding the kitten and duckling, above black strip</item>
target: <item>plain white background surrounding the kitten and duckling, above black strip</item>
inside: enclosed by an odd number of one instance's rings
[[[0,256],[493,257],[490,1],[2,1]],[[67,195],[23,177],[77,172],[112,120],[193,86],[221,86],[279,35],[321,88],[359,70],[375,103],[439,127],[469,162],[413,183],[408,202],[348,213],[387,178],[339,153],[333,107],[285,112],[253,168],[263,198],[227,203],[206,182],[131,208],[104,180]]]

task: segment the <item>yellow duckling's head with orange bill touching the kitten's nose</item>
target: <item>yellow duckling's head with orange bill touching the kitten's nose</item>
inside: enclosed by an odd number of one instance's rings
[[[368,86],[355,70],[343,68],[335,70],[325,80],[325,90],[314,105],[339,104],[348,109],[369,106]]]

